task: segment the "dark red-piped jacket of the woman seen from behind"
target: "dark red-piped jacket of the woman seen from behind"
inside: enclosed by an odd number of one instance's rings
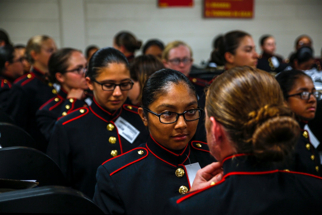
[[[223,161],[216,184],[174,197],[160,214],[316,214],[321,210],[322,178],[276,169],[253,156]]]

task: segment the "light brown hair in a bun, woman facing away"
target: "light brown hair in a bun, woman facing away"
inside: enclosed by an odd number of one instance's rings
[[[223,125],[238,153],[280,161],[291,153],[299,132],[283,100],[272,75],[248,66],[234,67],[214,79],[205,109],[208,117]]]

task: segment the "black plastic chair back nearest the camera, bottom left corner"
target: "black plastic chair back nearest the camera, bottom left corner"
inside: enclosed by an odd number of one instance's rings
[[[86,195],[63,186],[45,186],[0,193],[2,213],[103,214]]]

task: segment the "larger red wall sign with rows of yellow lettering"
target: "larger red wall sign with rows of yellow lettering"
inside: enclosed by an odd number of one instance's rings
[[[204,0],[205,18],[253,18],[254,0]]]

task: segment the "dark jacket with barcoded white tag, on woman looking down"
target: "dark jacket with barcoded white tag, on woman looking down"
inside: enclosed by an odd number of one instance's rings
[[[72,188],[92,198],[99,165],[146,142],[148,131],[135,110],[129,106],[110,113],[94,100],[56,121],[47,154]]]

